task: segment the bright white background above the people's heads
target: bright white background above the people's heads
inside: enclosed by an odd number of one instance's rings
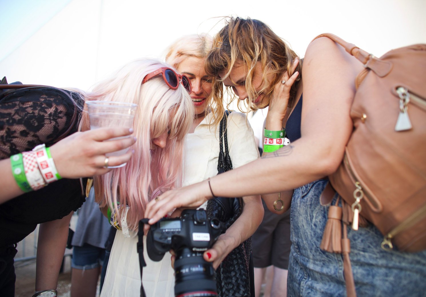
[[[0,0],[0,76],[89,89],[184,34],[214,34],[228,15],[262,20],[301,57],[324,32],[376,56],[426,43],[425,0]]]

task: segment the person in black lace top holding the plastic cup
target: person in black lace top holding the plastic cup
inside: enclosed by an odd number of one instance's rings
[[[13,257],[17,243],[40,223],[36,290],[55,289],[69,220],[72,211],[85,199],[83,183],[78,178],[110,171],[103,167],[105,153],[129,147],[135,139],[102,142],[132,133],[124,128],[78,132],[84,105],[78,93],[6,84],[3,78],[0,85],[4,87],[0,88],[0,291],[2,296],[14,296]],[[31,151],[43,143],[51,147],[63,179],[24,193],[14,180],[9,157]],[[127,162],[131,156],[130,151],[121,157],[110,157],[109,165]]]

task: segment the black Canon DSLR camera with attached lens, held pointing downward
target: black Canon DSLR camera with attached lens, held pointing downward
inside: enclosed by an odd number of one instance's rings
[[[216,275],[212,263],[203,252],[211,248],[224,224],[216,217],[207,217],[204,209],[185,209],[181,217],[163,218],[150,227],[147,254],[153,261],[163,259],[173,249],[175,260],[175,296],[217,296]]]

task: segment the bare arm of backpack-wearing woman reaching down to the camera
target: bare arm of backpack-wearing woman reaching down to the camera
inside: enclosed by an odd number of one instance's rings
[[[349,116],[360,63],[328,38],[308,47],[303,66],[302,137],[265,158],[210,179],[217,196],[238,197],[291,190],[333,173],[352,129]],[[282,168],[285,168],[283,170]],[[256,179],[256,183],[253,180]],[[265,187],[264,185],[268,185]],[[165,192],[145,212],[150,224],[168,211],[210,199],[207,181]]]

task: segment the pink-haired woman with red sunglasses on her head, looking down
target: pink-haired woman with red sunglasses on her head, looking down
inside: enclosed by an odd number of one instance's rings
[[[176,87],[170,86],[164,71],[172,76],[174,73]],[[185,82],[187,89],[183,86]],[[83,94],[86,100],[138,105],[133,122],[133,135],[137,140],[132,147],[132,159],[126,166],[94,179],[96,200],[112,225],[119,229],[101,296],[138,296],[140,293],[140,273],[126,276],[130,266],[139,267],[137,254],[135,259],[129,255],[136,250],[138,222],[144,217],[146,204],[165,190],[181,186],[184,136],[193,118],[189,90],[190,82],[169,65],[145,59],[127,64],[97,84],[92,92]],[[83,115],[81,124],[82,129],[87,129],[87,114]],[[153,274],[160,270],[161,266],[146,269]],[[146,290],[149,292],[148,286]]]

